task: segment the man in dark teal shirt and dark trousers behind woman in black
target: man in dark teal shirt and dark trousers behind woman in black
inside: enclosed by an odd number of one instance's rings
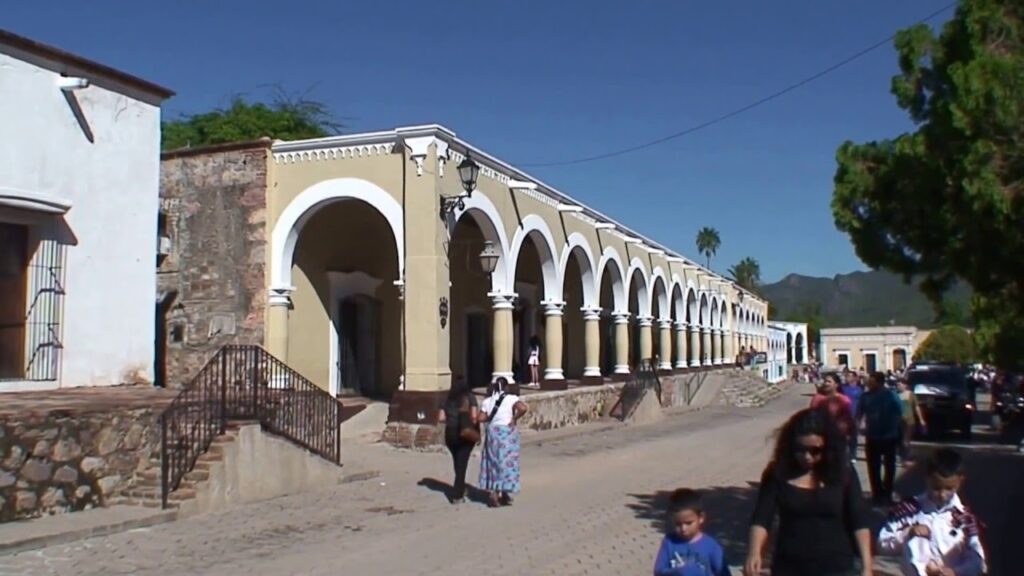
[[[867,392],[860,397],[858,422],[863,419],[864,453],[867,456],[867,479],[876,505],[888,506],[893,499],[896,476],[896,451],[899,448],[903,423],[903,401],[886,387],[885,375],[874,372],[867,380]],[[885,465],[885,477],[882,467]]]

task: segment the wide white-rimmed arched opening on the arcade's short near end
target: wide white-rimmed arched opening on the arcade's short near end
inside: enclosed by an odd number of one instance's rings
[[[400,233],[389,220],[386,209],[342,197],[310,204],[294,220],[298,229],[275,228],[275,238],[285,238],[274,246],[278,265],[289,265],[274,281],[292,288],[287,361],[335,395],[389,397],[398,386]]]

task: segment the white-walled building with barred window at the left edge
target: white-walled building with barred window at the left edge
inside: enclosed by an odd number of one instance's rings
[[[152,381],[171,95],[0,30],[0,392]]]

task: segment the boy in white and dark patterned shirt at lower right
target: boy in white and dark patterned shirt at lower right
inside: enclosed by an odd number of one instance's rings
[[[904,576],[981,576],[985,550],[974,516],[961,501],[964,459],[940,448],[926,464],[928,489],[895,506],[879,533],[883,552],[901,554]]]

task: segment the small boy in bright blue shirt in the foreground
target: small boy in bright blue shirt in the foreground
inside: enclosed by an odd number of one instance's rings
[[[721,544],[703,533],[700,494],[680,488],[669,500],[669,529],[654,561],[654,576],[731,576]]]

